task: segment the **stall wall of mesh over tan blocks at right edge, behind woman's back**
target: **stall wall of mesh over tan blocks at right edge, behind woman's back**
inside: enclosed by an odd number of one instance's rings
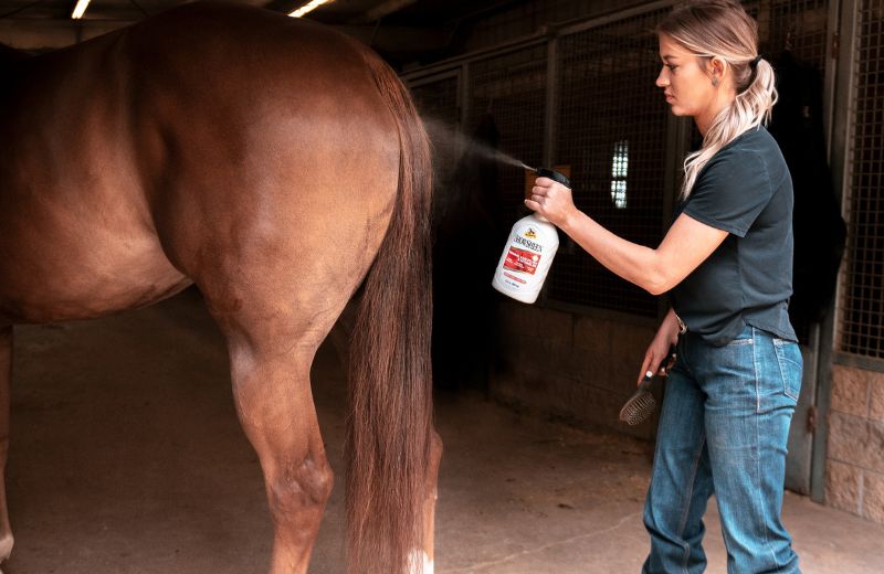
[[[814,464],[827,503],[884,523],[884,2],[845,0],[840,20],[832,163],[846,245]]]

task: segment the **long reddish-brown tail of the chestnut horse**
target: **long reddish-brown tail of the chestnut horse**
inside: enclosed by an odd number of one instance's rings
[[[427,132],[407,88],[366,61],[399,131],[399,185],[364,285],[350,350],[347,423],[349,571],[418,571],[432,433],[430,208]]]

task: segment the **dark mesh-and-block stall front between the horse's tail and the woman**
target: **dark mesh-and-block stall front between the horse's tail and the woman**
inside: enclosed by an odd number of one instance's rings
[[[631,241],[659,243],[675,193],[677,161],[667,150],[683,147],[686,134],[654,86],[651,30],[665,11],[620,11],[407,75],[436,151],[434,363],[443,386],[652,436],[653,421],[627,427],[618,413],[634,391],[659,300],[564,235],[537,304],[493,291],[509,228],[527,213],[533,174],[487,150],[567,171],[578,206]],[[486,364],[469,364],[464,349]]]

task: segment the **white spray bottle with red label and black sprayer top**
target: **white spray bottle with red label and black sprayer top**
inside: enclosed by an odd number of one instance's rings
[[[558,171],[536,171],[538,178],[549,178],[571,189],[571,182]],[[543,215],[532,213],[518,220],[509,232],[492,287],[522,302],[536,301],[558,248],[556,226]]]

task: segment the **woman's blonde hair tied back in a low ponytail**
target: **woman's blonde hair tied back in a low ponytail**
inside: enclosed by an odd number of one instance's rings
[[[697,176],[723,147],[770,120],[777,102],[774,67],[758,57],[758,24],[730,0],[704,0],[674,10],[657,26],[698,57],[720,57],[732,70],[737,97],[713,120],[703,146],[684,160],[681,198],[687,199]]]

